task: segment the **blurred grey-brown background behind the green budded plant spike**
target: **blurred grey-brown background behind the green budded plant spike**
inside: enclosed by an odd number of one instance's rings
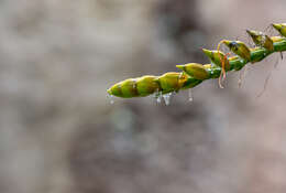
[[[172,98],[112,84],[207,63],[201,47],[286,22],[285,0],[0,0],[1,193],[286,191],[279,54]],[[274,31],[270,32],[275,34]],[[264,82],[273,71],[266,90]]]

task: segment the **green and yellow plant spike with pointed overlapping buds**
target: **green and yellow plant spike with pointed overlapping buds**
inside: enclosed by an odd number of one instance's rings
[[[152,94],[168,94],[180,89],[193,88],[206,79],[219,78],[222,72],[240,71],[249,62],[256,63],[274,52],[286,51],[286,23],[273,23],[272,26],[282,36],[267,36],[253,30],[246,30],[252,37],[255,47],[249,47],[241,41],[222,40],[221,43],[237,56],[228,57],[219,50],[206,50],[204,53],[211,64],[188,63],[176,65],[183,72],[169,72],[161,76],[146,75],[138,78],[129,78],[111,86],[109,95],[132,98],[145,97]]]

